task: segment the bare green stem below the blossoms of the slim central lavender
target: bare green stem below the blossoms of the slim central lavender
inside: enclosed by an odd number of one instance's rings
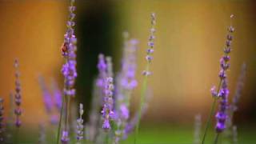
[[[148,63],[146,65],[146,71],[150,70],[150,63]],[[142,93],[141,93],[141,100],[140,100],[140,107],[139,107],[139,111],[138,111],[138,123],[135,127],[135,138],[134,138],[134,144],[136,144],[137,142],[137,138],[138,138],[138,129],[139,129],[139,124],[140,124],[140,120],[142,117],[142,109],[144,106],[144,102],[145,102],[145,95],[146,95],[146,88],[147,88],[147,78],[148,75],[145,75],[145,78],[143,80],[143,86],[142,86]]]

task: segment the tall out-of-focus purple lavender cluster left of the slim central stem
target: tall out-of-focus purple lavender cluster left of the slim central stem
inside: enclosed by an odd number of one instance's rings
[[[138,41],[136,39],[129,39],[129,34],[125,32],[124,48],[122,54],[122,67],[117,77],[116,92],[116,112],[118,130],[115,131],[115,142],[121,139],[125,133],[126,124],[130,117],[130,96],[132,90],[138,85],[135,79],[136,74],[136,53],[138,49]]]

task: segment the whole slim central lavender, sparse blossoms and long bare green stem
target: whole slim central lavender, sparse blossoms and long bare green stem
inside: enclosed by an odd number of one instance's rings
[[[141,94],[141,101],[140,101],[140,106],[139,106],[139,112],[138,112],[138,123],[136,125],[136,131],[135,131],[135,138],[134,138],[134,144],[136,144],[137,138],[138,138],[138,129],[139,129],[139,124],[140,124],[140,120],[142,117],[142,109],[144,106],[144,102],[145,102],[145,95],[146,95],[146,87],[147,87],[147,78],[150,75],[150,63],[152,62],[152,54],[154,52],[154,33],[155,33],[155,14],[152,13],[151,14],[151,28],[150,28],[150,38],[149,38],[149,42],[148,42],[148,46],[149,48],[146,50],[146,61],[147,61],[147,65],[146,65],[146,70],[144,70],[142,72],[143,75],[145,75],[145,78],[143,80],[143,86],[142,86],[142,94]]]

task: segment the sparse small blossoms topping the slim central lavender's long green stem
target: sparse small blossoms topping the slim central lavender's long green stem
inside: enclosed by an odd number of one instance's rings
[[[156,17],[155,17],[155,14],[152,13],[151,14],[151,28],[150,28],[150,38],[149,38],[149,42],[148,42],[148,46],[149,48],[146,50],[146,61],[148,63],[151,63],[151,61],[153,60],[153,57],[152,57],[152,54],[154,53],[154,39],[155,39],[155,36],[154,36],[154,33],[155,33],[155,29],[154,29],[154,26],[155,26],[155,23],[156,23]],[[148,76],[150,75],[150,71],[149,70],[144,70],[142,72],[143,75],[145,76]]]

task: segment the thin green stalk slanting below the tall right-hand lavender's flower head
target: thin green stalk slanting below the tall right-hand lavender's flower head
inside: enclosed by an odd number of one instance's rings
[[[220,82],[218,83],[217,94],[219,93],[219,90],[221,89],[221,86],[222,86],[222,80],[220,80]],[[214,98],[214,102],[213,102],[212,105],[211,105],[210,115],[208,116],[207,122],[206,122],[206,130],[205,130],[205,132],[204,132],[204,134],[203,134],[203,136],[202,136],[202,144],[205,143],[206,134],[207,134],[207,131],[208,131],[209,126],[210,126],[210,120],[211,120],[211,118],[212,118],[213,115],[214,115],[214,109],[215,109],[215,107],[216,107],[217,99],[218,99],[218,97],[215,97],[215,98]]]

